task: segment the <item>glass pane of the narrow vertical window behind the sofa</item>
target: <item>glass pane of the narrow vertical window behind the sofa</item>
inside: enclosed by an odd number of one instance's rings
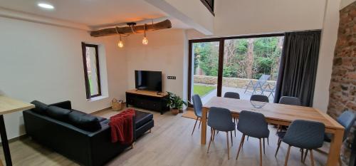
[[[88,72],[88,80],[90,85],[90,95],[98,95],[98,73],[96,68],[96,52],[95,47],[86,47],[86,65]]]

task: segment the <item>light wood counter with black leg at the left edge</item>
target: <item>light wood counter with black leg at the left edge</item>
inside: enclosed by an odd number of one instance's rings
[[[6,113],[14,113],[16,111],[28,110],[31,108],[35,108],[35,105],[30,103],[23,103],[19,100],[15,100],[4,95],[0,95],[0,135],[1,135],[1,143],[2,148],[4,150],[4,156],[6,165],[12,165],[11,155],[9,149],[9,142],[7,140],[6,128],[4,123],[4,114]]]

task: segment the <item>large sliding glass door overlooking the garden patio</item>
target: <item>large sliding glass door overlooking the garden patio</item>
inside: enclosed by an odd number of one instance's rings
[[[242,100],[262,94],[273,102],[283,38],[273,34],[189,41],[189,99],[199,94],[205,103],[236,92]]]

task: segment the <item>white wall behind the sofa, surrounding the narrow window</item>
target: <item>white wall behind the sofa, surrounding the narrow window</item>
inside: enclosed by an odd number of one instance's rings
[[[114,97],[124,98],[126,63],[116,37],[91,38],[86,31],[2,17],[0,25],[0,91],[5,95],[26,102],[71,100],[74,109],[86,113],[107,108]],[[82,41],[100,44],[108,98],[85,99]],[[5,115],[5,123],[9,138],[24,133],[21,112]]]

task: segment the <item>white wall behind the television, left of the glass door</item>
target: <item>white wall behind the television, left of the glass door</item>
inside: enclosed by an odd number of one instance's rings
[[[166,29],[147,33],[148,45],[142,45],[142,34],[125,40],[127,57],[127,85],[135,88],[135,70],[162,71],[163,90],[184,96],[184,50],[187,40],[184,30]],[[186,49],[187,50],[187,49]],[[167,76],[176,76],[168,80]]]

